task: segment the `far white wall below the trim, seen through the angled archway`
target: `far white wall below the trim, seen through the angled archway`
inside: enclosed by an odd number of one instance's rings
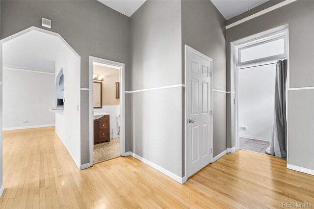
[[[3,68],[3,82],[3,130],[54,126],[54,74]]]

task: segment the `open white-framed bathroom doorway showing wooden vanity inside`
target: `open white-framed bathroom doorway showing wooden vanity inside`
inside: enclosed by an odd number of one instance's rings
[[[124,64],[90,57],[90,147],[95,164],[124,156]]]

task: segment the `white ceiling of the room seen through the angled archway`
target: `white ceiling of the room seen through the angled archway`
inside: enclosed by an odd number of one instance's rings
[[[29,31],[3,43],[3,66],[55,73],[55,58],[61,44],[56,36]]]

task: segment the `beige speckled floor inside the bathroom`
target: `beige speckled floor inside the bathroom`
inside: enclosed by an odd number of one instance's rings
[[[120,138],[94,145],[94,163],[120,156]]]

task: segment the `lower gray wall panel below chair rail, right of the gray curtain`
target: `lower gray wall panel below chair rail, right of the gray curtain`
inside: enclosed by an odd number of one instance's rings
[[[288,163],[314,170],[314,89],[289,91],[288,100]]]

